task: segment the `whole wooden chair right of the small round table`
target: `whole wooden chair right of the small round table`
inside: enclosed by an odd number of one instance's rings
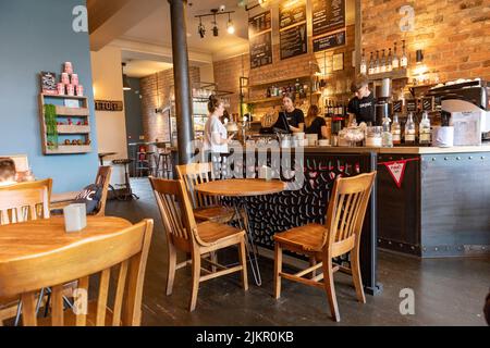
[[[281,278],[323,288],[327,291],[332,318],[340,321],[333,273],[342,271],[352,275],[357,299],[363,303],[366,302],[360,277],[359,244],[375,177],[376,172],[351,178],[338,178],[333,186],[324,225],[308,224],[274,236],[274,296],[277,299],[281,297]],[[282,271],[283,249],[307,254],[313,260],[322,262],[314,262],[316,264],[304,271],[289,274]],[[333,263],[333,258],[347,252],[351,252],[351,269]],[[304,277],[320,268],[323,271],[322,274],[310,278]]]

